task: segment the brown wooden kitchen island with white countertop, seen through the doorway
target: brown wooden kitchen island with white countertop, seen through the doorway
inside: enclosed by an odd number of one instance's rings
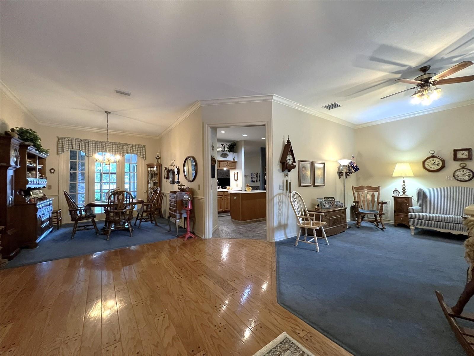
[[[230,191],[230,216],[238,221],[266,217],[266,191]]]

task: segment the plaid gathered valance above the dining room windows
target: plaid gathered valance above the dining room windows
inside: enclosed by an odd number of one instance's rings
[[[145,145],[135,143],[109,142],[109,153],[125,156],[127,153],[134,153],[138,157],[146,159]],[[107,152],[106,141],[83,140],[73,137],[58,137],[58,154],[68,150],[81,150],[87,157],[92,157],[97,152]]]

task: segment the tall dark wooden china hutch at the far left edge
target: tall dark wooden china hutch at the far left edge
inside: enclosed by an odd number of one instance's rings
[[[35,248],[53,230],[53,198],[46,188],[47,154],[12,136],[1,136],[1,254],[12,259],[20,247]]]

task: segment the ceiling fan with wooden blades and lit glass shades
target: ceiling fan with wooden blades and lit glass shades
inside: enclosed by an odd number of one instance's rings
[[[417,76],[414,80],[411,79],[397,79],[395,82],[413,84],[414,87],[410,89],[402,90],[401,92],[384,96],[380,99],[385,99],[390,96],[400,94],[406,92],[411,89],[415,89],[415,94],[411,95],[413,103],[423,103],[425,105],[429,105],[434,99],[438,99],[441,89],[437,88],[437,85],[443,84],[455,84],[455,83],[464,83],[464,82],[471,82],[474,80],[474,75],[466,75],[466,76],[459,76],[456,78],[446,78],[447,76],[453,75],[460,70],[467,68],[468,66],[472,66],[472,61],[464,61],[461,63],[456,64],[456,66],[452,66],[451,68],[441,72],[439,74],[436,73],[427,73],[430,66],[422,66],[418,70],[423,73],[422,75]]]

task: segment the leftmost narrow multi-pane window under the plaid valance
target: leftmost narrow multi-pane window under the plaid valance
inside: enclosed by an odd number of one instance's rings
[[[78,206],[85,205],[86,197],[86,155],[82,151],[69,151],[68,193]]]

